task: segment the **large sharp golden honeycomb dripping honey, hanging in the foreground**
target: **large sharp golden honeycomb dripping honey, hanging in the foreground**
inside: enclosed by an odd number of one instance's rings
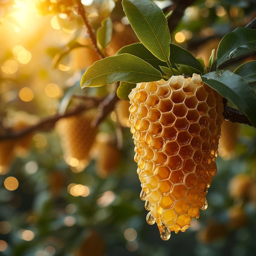
[[[129,94],[131,133],[146,221],[160,236],[185,231],[207,208],[216,175],[222,96],[201,76],[138,83]]]

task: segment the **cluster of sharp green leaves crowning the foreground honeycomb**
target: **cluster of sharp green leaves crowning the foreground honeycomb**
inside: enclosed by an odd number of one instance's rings
[[[172,75],[191,76],[196,73],[202,76],[204,83],[244,112],[256,126],[256,94],[249,85],[256,81],[256,61],[243,63],[233,72],[222,70],[231,59],[255,52],[254,29],[238,27],[226,34],[218,45],[216,58],[212,51],[207,68],[201,58],[195,58],[186,49],[171,43],[167,24],[167,18],[171,18],[171,15],[165,16],[157,4],[148,0],[123,0],[122,4],[141,43],[125,46],[115,56],[95,62],[83,74],[82,88],[120,81],[117,94],[127,100],[127,95],[136,83],[168,80]],[[108,41],[102,42],[101,45],[108,45]]]

